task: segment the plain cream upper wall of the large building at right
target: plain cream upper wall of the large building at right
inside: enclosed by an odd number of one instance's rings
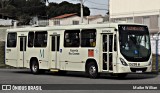
[[[160,0],[110,0],[110,17],[159,15]]]

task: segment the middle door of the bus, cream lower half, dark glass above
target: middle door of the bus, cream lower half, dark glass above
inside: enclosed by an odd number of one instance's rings
[[[60,34],[51,35],[51,55],[50,55],[50,67],[59,69],[59,47],[60,47]]]

